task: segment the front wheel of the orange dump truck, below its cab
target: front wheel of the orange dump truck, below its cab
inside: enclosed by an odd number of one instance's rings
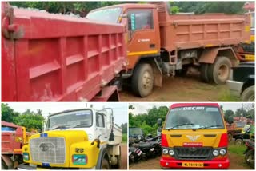
[[[138,97],[146,97],[152,93],[154,86],[154,73],[150,64],[142,63],[134,69],[131,78],[133,92]]]

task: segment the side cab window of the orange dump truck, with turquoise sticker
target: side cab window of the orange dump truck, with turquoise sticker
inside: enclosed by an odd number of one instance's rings
[[[154,29],[152,10],[128,11],[128,30]]]

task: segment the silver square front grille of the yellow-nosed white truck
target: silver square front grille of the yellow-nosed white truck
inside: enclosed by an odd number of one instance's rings
[[[32,161],[64,164],[66,159],[65,139],[62,137],[38,137],[30,139]]]

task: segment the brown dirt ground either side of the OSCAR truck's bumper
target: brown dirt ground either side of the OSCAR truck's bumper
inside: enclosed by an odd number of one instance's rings
[[[150,159],[148,161],[141,161],[129,165],[129,169],[161,169],[159,161],[161,157]],[[246,165],[244,158],[234,153],[230,153],[230,168],[229,169],[250,169]]]

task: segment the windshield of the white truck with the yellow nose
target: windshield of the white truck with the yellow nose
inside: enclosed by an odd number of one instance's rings
[[[78,110],[67,113],[59,113],[48,118],[46,130],[86,128],[93,122],[91,110]]]

